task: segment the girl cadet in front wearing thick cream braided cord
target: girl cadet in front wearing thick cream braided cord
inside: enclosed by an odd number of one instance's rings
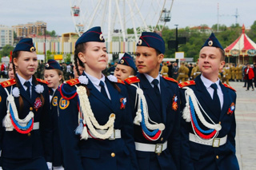
[[[74,63],[77,69],[78,64],[85,65],[85,71],[59,88],[59,128],[67,170],[138,167],[126,86],[113,75],[102,74],[108,61],[104,42],[100,27],[78,38]]]

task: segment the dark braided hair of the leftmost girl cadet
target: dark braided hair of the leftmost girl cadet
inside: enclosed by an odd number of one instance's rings
[[[14,53],[12,54],[12,61],[11,61],[12,63],[14,63],[14,58],[18,58],[19,57],[19,54],[20,54],[20,51],[14,51]],[[14,79],[17,82],[16,86],[19,89],[20,88],[19,85],[18,85],[19,80],[18,80],[18,77],[16,76],[15,65],[13,65],[13,69],[14,69]],[[38,81],[36,81],[36,77],[34,75],[32,77],[33,77],[32,80],[34,80],[34,84],[38,85]],[[45,99],[43,98],[42,93],[40,93],[40,99],[42,101],[42,106],[43,106],[44,103],[45,103]],[[24,103],[23,103],[23,100],[22,100],[21,96],[18,97],[18,103],[19,103],[19,111],[22,111]]]

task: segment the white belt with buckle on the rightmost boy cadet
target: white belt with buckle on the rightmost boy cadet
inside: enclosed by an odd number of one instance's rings
[[[223,144],[226,144],[226,139],[227,136],[224,136],[222,138],[214,138],[214,140],[210,140],[210,141],[204,141],[204,140],[200,140],[198,139],[197,136],[195,136],[194,134],[190,133],[190,141],[197,143],[197,144],[204,144],[204,145],[208,145],[208,146],[213,146],[213,147],[219,147]]]

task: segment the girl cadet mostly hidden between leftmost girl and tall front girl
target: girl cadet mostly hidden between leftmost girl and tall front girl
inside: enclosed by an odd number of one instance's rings
[[[64,76],[61,66],[54,59],[47,61],[44,70],[44,79],[48,82],[49,94],[50,94],[50,112],[53,117],[53,169],[62,170],[62,147],[59,140],[58,132],[58,86],[62,85]]]

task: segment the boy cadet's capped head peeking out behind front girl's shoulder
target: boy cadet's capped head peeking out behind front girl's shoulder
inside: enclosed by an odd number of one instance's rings
[[[129,53],[124,53],[114,69],[114,76],[124,81],[128,77],[134,76],[136,70],[134,58],[131,57]]]

